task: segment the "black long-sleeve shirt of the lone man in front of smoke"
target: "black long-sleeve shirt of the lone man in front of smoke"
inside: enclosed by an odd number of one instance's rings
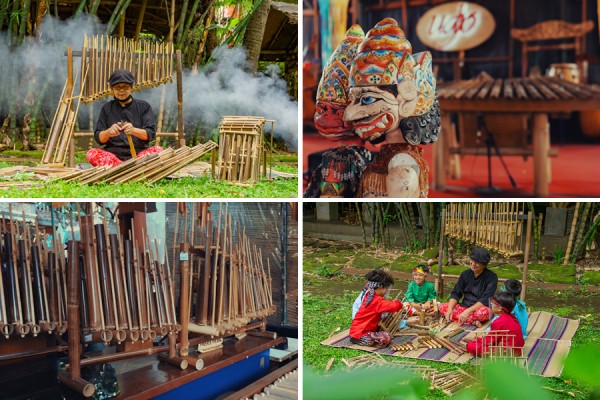
[[[122,106],[117,100],[111,100],[102,107],[96,123],[94,139],[96,143],[104,145],[104,150],[110,151],[120,160],[128,160],[131,158],[131,150],[125,132],[109,138],[106,143],[100,143],[100,132],[121,121],[131,122],[134,128],[144,129],[148,134],[148,140],[131,136],[135,151],[139,153],[147,149],[149,143],[156,137],[156,119],[152,107],[144,100],[133,99],[125,106]]]

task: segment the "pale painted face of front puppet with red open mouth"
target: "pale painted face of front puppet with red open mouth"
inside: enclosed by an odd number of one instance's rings
[[[397,129],[399,103],[393,93],[376,86],[354,87],[344,119],[354,124],[354,132],[363,140],[374,141]]]

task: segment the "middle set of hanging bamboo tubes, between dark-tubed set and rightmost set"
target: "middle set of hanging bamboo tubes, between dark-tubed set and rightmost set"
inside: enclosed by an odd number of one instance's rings
[[[84,340],[121,343],[153,339],[181,329],[175,314],[175,280],[158,259],[156,241],[108,233],[92,216],[79,216],[80,319]],[[131,232],[129,237],[136,237]]]

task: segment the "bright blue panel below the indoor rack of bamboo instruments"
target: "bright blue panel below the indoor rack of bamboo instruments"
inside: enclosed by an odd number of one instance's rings
[[[163,393],[155,399],[215,399],[225,393],[237,391],[244,386],[262,378],[269,371],[269,349],[250,356],[235,364],[221,368],[212,374],[205,375],[170,392]]]

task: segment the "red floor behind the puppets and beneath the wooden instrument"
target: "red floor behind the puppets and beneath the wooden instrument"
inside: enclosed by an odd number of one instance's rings
[[[335,146],[324,141],[318,134],[306,134],[303,138],[303,167],[306,171],[308,155]],[[432,165],[431,146],[423,146],[425,159]],[[552,181],[549,197],[600,197],[600,145],[577,144],[555,146],[558,156],[551,158]],[[447,179],[444,192],[429,190],[430,198],[447,197],[532,197],[533,159],[529,157],[503,157],[512,174],[517,189],[513,190],[510,180],[498,157],[492,157],[492,184],[500,189],[497,194],[481,193],[478,189],[488,186],[486,156],[463,156],[461,158],[461,179]],[[429,183],[432,182],[431,172]],[[306,187],[304,182],[304,187]]]

